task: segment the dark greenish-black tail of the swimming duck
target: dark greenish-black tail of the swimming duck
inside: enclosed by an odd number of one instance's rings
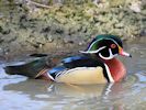
[[[41,72],[47,68],[48,65],[46,64],[45,58],[41,58],[22,65],[5,66],[4,70],[9,75],[22,75],[30,78],[36,78]]]

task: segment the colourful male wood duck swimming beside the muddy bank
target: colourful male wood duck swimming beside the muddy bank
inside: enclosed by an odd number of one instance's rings
[[[102,34],[96,36],[81,55],[64,58],[52,67],[45,57],[22,65],[7,66],[10,75],[24,75],[30,78],[45,78],[56,82],[89,85],[115,82],[123,79],[126,69],[116,55],[132,57],[123,51],[119,36]]]

